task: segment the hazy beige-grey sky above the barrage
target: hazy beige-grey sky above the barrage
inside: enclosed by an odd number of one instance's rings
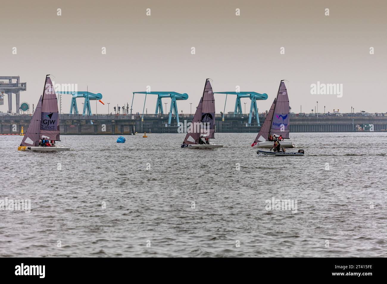
[[[96,110],[92,102],[93,113],[108,113],[107,103],[109,112],[113,105],[130,106],[132,92],[150,86],[187,93],[177,104],[188,114],[206,78],[214,92],[239,86],[241,92],[266,93],[259,112],[270,108],[283,79],[294,112],[301,105],[302,112],[314,111],[317,101],[319,112],[324,106],[326,112],[387,112],[386,8],[381,0],[5,1],[0,76],[27,82],[20,100],[31,107],[46,74],[55,83],[101,93],[105,105],[98,102]],[[339,84],[341,92],[313,94],[317,82]],[[142,113],[144,97],[135,95],[133,112]],[[70,100],[62,95],[62,112],[69,112]],[[215,95],[215,101],[216,112],[223,111],[225,95]],[[82,102],[77,100],[79,109]],[[248,112],[250,99],[241,102]],[[165,109],[164,103],[169,111],[170,99],[163,99]],[[234,106],[229,95],[225,112]],[[154,113],[155,95],[147,96],[145,108]],[[7,110],[5,95],[0,111]]]

